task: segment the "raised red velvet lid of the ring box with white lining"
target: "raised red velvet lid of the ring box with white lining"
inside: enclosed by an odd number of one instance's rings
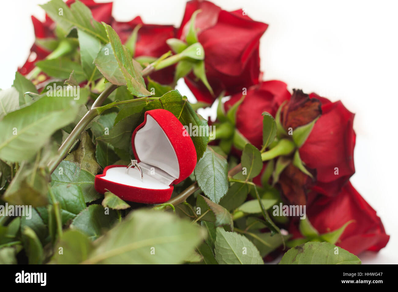
[[[197,157],[192,139],[168,110],[145,112],[144,122],[133,132],[131,145],[141,166],[162,172],[173,184],[187,178],[195,169]]]

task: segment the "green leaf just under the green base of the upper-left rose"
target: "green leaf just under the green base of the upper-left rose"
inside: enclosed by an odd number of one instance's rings
[[[68,79],[70,73],[74,71],[74,75],[76,76],[76,80],[78,83],[86,80],[86,76],[80,64],[73,62],[66,57],[42,60],[37,62],[36,66],[39,67],[47,75],[55,78]]]

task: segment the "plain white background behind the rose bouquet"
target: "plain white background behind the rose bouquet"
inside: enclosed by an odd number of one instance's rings
[[[0,88],[9,88],[34,41],[30,16],[44,20],[37,4],[46,0],[2,1]],[[101,1],[97,2],[109,2]],[[261,39],[264,79],[280,79],[332,101],[342,100],[356,113],[356,173],[352,184],[377,210],[391,235],[378,254],[364,253],[363,263],[398,263],[397,123],[398,2],[394,1],[248,1],[214,0],[224,10],[243,8],[269,24]],[[116,0],[113,16],[145,23],[181,22],[185,1]],[[190,99],[185,84],[179,90]],[[214,117],[214,110],[201,113]]]

